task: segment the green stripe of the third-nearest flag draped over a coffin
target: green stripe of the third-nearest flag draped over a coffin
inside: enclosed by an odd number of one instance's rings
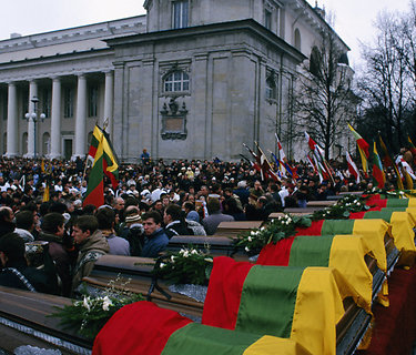
[[[328,266],[333,239],[331,235],[296,236],[288,266]]]

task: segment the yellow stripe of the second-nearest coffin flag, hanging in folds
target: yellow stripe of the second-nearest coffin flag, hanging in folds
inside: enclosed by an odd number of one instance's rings
[[[311,354],[336,354],[336,323],[344,315],[343,300],[351,286],[333,267],[305,268],[297,287],[291,339]]]

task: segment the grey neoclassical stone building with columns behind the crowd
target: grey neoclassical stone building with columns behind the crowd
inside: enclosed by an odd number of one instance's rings
[[[321,31],[333,31],[322,10],[305,0],[144,8],[145,16],[0,41],[6,156],[84,156],[95,122],[106,120],[123,161],[144,148],[168,160],[235,160],[254,141],[276,150],[274,133],[295,119],[298,65]]]

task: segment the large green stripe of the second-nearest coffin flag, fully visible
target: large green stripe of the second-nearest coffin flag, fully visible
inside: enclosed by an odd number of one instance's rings
[[[254,265],[244,281],[235,329],[288,338],[303,271]]]

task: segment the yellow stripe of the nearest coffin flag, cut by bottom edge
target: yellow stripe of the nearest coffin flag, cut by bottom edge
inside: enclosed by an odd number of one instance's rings
[[[265,335],[250,345],[243,355],[312,355],[292,339]]]

